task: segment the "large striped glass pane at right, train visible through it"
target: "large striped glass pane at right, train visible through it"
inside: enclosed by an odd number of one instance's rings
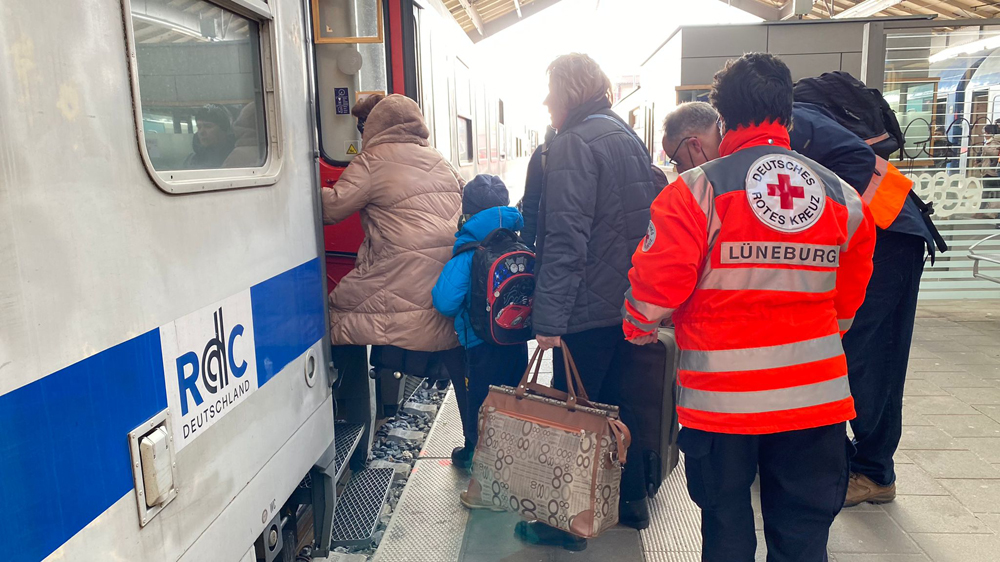
[[[968,252],[1000,233],[1000,26],[887,31],[885,44],[883,93],[905,137],[892,161],[951,247],[927,263],[921,296],[996,297]],[[1000,239],[979,250],[1000,252]]]

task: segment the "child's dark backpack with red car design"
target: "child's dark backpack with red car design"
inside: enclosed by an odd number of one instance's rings
[[[480,339],[514,345],[532,338],[535,254],[514,231],[498,228],[481,242],[459,246],[455,255],[472,256],[469,323]]]

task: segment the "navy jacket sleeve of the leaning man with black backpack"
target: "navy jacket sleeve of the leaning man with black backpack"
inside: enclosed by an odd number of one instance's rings
[[[789,131],[792,150],[819,162],[864,193],[875,172],[875,153],[819,107],[796,103]]]

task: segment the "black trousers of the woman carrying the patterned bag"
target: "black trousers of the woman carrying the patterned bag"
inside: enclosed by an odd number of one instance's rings
[[[569,347],[580,379],[587,395],[598,402],[620,408],[622,422],[632,433],[632,443],[638,443],[636,431],[639,420],[628,396],[622,392],[622,365],[626,357],[635,351],[635,346],[625,341],[621,326],[595,328],[562,337]],[[566,391],[566,369],[563,365],[562,350],[556,349],[552,358],[552,386]],[[642,455],[633,454],[638,447],[630,447],[628,462],[622,471],[621,499],[635,501],[646,497],[646,469]]]

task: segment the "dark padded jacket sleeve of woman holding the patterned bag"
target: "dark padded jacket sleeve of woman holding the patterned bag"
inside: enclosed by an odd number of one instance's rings
[[[545,232],[532,317],[535,333],[561,336],[568,332],[587,265],[598,168],[590,147],[575,134],[553,142],[545,167]]]

